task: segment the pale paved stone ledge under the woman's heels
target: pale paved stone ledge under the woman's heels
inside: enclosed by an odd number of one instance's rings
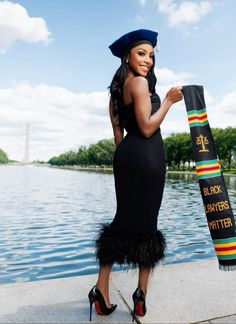
[[[96,275],[0,286],[0,323],[88,323],[87,294]],[[110,316],[93,309],[93,323],[131,323],[137,271],[113,272]],[[137,323],[236,323],[236,272],[218,270],[217,260],[158,267]]]

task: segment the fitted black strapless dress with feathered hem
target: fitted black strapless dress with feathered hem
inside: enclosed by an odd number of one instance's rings
[[[151,97],[152,113],[160,107]],[[133,104],[122,108],[127,131],[113,161],[117,211],[111,224],[101,225],[96,257],[101,265],[113,263],[153,268],[164,257],[165,239],[157,230],[166,159],[160,128],[145,138],[140,132]]]

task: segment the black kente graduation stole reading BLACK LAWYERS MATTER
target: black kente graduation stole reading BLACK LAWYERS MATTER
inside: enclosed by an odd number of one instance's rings
[[[207,119],[203,87],[183,87],[196,174],[221,270],[236,270],[235,220]]]

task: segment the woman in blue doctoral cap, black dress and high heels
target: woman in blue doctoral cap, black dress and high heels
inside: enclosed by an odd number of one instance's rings
[[[149,274],[164,257],[165,239],[157,230],[166,169],[160,124],[171,105],[182,99],[182,87],[171,88],[160,103],[154,74],[157,35],[151,30],[135,30],[109,47],[121,58],[110,85],[109,105],[116,143],[117,210],[112,223],[102,225],[96,241],[100,269],[96,286],[89,293],[90,320],[93,303],[101,315],[116,308],[109,300],[113,263],[138,266],[133,316],[144,316]]]

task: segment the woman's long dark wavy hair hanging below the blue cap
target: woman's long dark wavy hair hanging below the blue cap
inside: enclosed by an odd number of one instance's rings
[[[128,64],[126,63],[126,57],[125,55],[123,59],[121,60],[121,65],[116,71],[115,75],[113,76],[113,79],[111,81],[110,86],[108,87],[111,100],[112,100],[112,106],[113,106],[113,116],[118,116],[120,123],[122,122],[122,107],[124,105],[123,103],[123,86],[126,79],[126,76],[129,72]],[[156,76],[154,73],[154,66],[155,66],[155,57],[153,56],[153,65],[151,69],[148,71],[148,74],[146,76],[146,79],[148,81],[148,88],[149,92],[153,95],[155,91],[156,86]]]

